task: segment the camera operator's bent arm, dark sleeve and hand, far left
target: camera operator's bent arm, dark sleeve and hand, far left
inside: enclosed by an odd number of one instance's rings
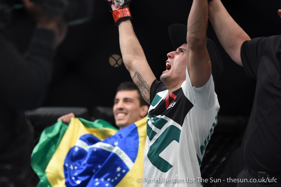
[[[0,25],[1,98],[8,107],[31,110],[40,106],[52,78],[52,64],[57,47],[67,33],[62,15],[45,11],[31,0],[23,0],[35,20],[36,29],[28,50],[22,56]]]

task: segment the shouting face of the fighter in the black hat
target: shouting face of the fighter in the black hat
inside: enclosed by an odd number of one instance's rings
[[[167,54],[166,71],[160,76],[160,80],[168,84],[182,84],[185,81],[186,71],[186,44],[176,51]]]

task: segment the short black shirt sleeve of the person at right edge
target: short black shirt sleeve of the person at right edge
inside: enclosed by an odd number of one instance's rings
[[[241,45],[241,61],[246,74],[257,79],[260,56],[263,55],[265,37],[245,41]]]

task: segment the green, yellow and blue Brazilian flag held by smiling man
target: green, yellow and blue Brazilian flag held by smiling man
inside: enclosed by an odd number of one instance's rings
[[[104,120],[57,122],[31,155],[38,187],[142,186],[146,136],[146,117],[120,131]]]

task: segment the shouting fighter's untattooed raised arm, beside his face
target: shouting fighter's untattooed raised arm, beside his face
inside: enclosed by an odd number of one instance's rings
[[[193,0],[187,23],[187,69],[191,84],[204,86],[210,79],[212,68],[206,48],[208,1]]]

